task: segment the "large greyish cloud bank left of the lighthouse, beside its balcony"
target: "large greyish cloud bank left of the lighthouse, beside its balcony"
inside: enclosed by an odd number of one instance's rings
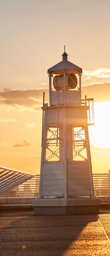
[[[0,107],[19,111],[42,111],[43,92],[45,92],[45,102],[48,102],[49,90],[46,89],[5,90],[0,92]]]

